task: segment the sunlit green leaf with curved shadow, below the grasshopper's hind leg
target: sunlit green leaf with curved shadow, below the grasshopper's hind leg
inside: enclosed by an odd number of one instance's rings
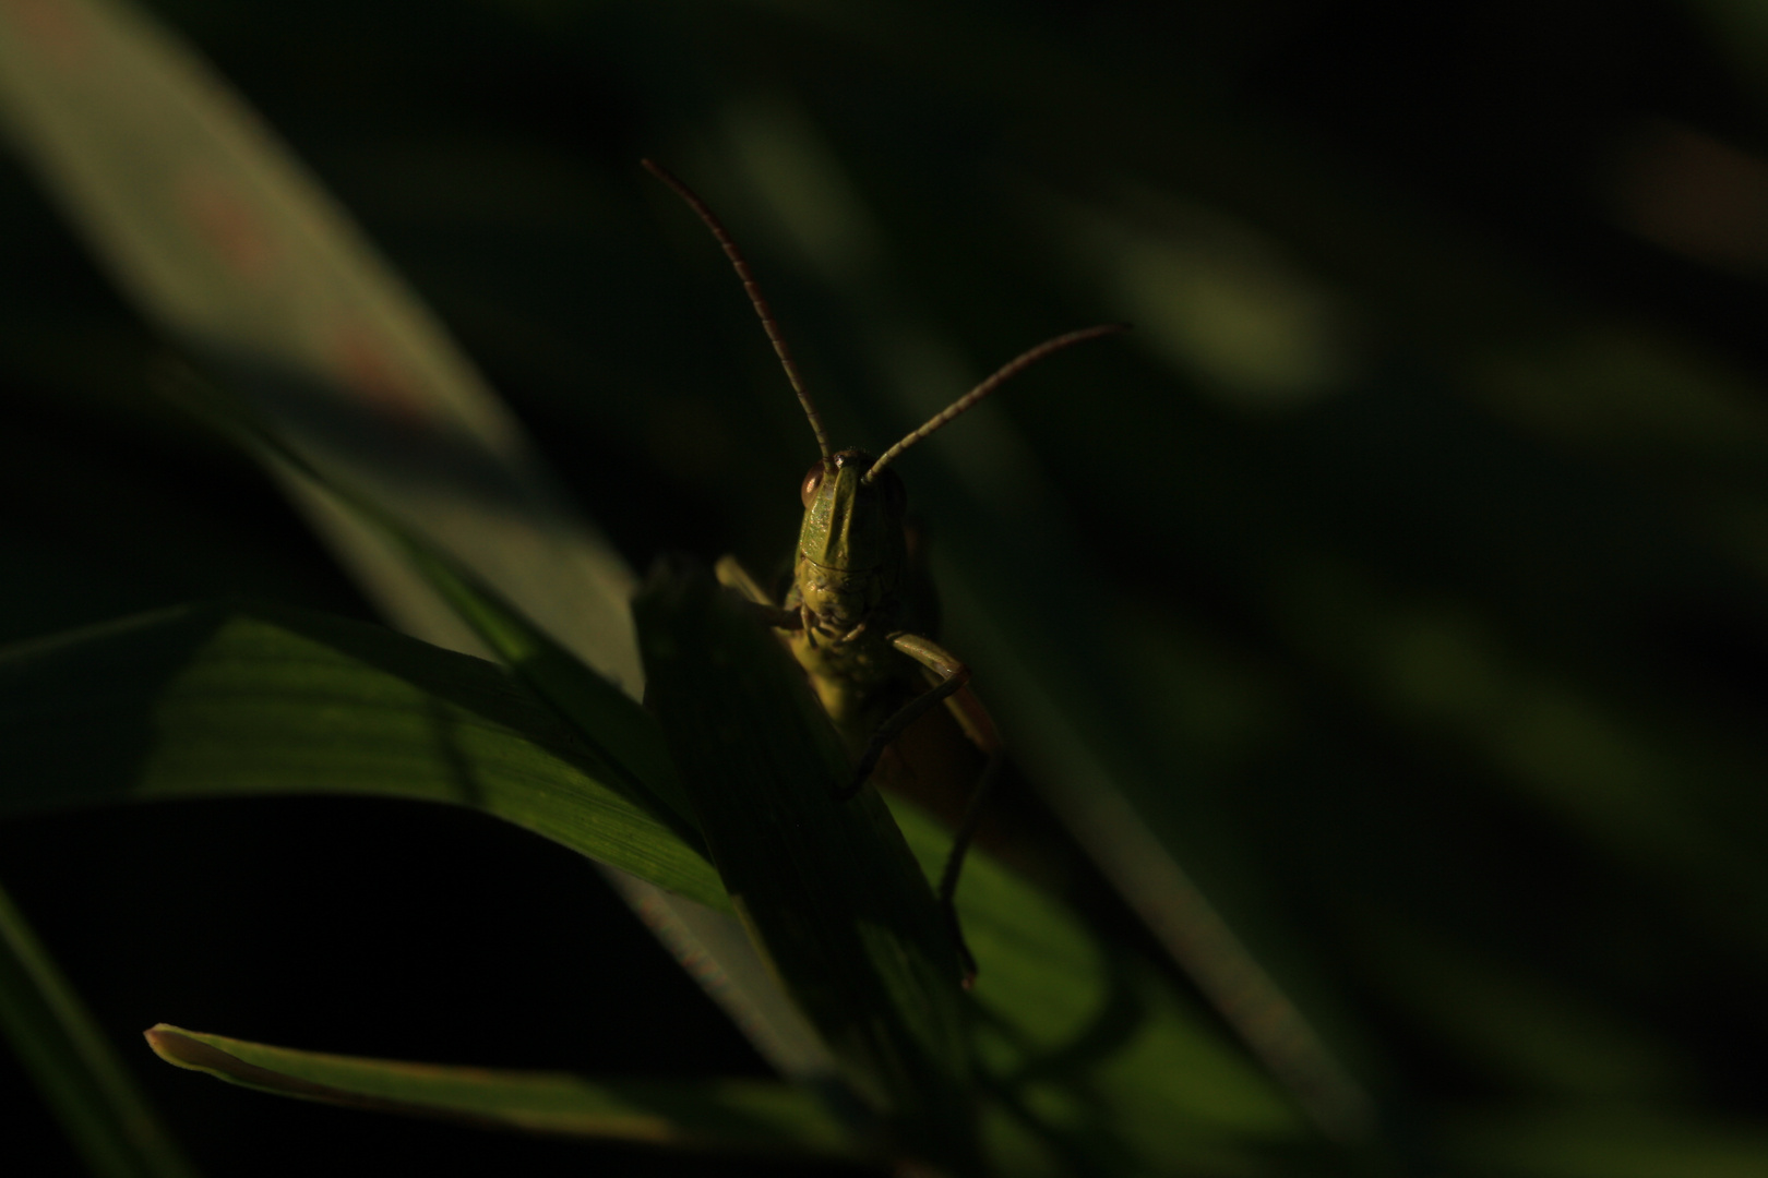
[[[907,802],[891,811],[937,878],[951,832]],[[1271,1077],[1169,978],[987,851],[965,862],[958,915],[1002,1173],[1055,1159],[1119,1174],[1257,1173],[1278,1153],[1287,1173],[1330,1164]]]

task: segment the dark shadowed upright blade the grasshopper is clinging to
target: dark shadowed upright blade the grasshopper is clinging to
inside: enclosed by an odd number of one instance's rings
[[[651,705],[737,913],[911,1153],[972,1169],[958,959],[932,888],[803,673],[704,570],[635,602]]]

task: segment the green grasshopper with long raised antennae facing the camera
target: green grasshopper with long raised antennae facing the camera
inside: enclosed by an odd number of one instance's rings
[[[925,426],[872,457],[859,449],[833,450],[822,415],[799,378],[773,309],[762,297],[748,261],[723,223],[686,184],[645,159],[647,171],[681,196],[713,231],[743,279],[762,330],[773,343],[787,381],[817,434],[822,457],[804,473],[799,500],[804,523],[797,533],[792,585],[781,604],[734,556],[718,562],[718,579],[743,593],[776,627],[810,676],[836,731],[856,752],[854,775],[838,800],[847,800],[872,777],[884,751],[926,712],[944,705],[964,735],[987,758],[971,789],[935,894],[964,964],[964,985],[976,978],[976,959],[964,943],[953,899],[964,855],[981,823],[983,802],[1006,754],[988,710],[969,689],[971,669],[923,631],[932,629],[932,581],[919,544],[905,521],[907,487],[891,470],[903,450],[946,426],[1002,383],[1054,351],[1087,339],[1126,330],[1101,323],[1068,332],[1004,364],[988,380],[935,413]],[[907,698],[907,703],[900,703]]]

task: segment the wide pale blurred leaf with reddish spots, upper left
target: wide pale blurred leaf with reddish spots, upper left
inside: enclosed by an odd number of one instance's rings
[[[4,5],[0,117],[143,314],[311,463],[636,692],[619,556],[433,316],[182,42],[113,0]],[[403,625],[470,643],[373,537],[308,507]]]

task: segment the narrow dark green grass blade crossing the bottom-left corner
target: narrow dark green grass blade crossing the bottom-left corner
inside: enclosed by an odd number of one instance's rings
[[[4,888],[0,1026],[94,1174],[196,1173]]]

